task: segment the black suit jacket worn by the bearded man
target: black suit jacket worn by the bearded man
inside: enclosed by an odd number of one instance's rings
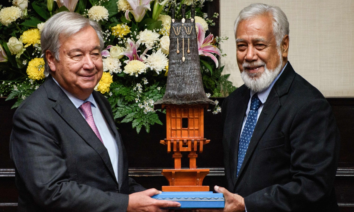
[[[248,212],[338,211],[333,182],[340,138],[324,96],[288,63],[264,103],[236,179],[249,99],[243,85],[222,105],[228,190],[245,198]]]

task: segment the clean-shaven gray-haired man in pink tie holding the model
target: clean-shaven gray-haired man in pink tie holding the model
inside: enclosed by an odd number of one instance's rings
[[[10,154],[18,211],[165,211],[128,177],[124,146],[108,100],[94,91],[102,77],[103,36],[79,13],[60,12],[41,34],[48,75],[13,117]]]

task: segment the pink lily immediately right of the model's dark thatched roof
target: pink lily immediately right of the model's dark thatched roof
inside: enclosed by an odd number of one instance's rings
[[[215,57],[215,55],[211,54],[217,54],[220,56],[221,52],[218,47],[212,45],[214,41],[214,35],[209,34],[207,37],[205,37],[205,32],[202,30],[203,27],[200,23],[195,23],[198,27],[198,52],[199,55],[207,56],[210,57],[211,59],[214,60],[216,67],[219,66],[218,59]]]

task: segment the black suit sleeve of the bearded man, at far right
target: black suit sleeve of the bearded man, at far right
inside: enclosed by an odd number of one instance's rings
[[[246,196],[248,212],[302,211],[303,207],[320,207],[320,202],[329,198],[340,140],[329,103],[325,99],[308,102],[297,112],[289,135],[291,181]]]

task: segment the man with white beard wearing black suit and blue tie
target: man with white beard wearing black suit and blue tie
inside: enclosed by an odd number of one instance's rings
[[[225,212],[338,211],[339,131],[329,103],[287,60],[289,22],[252,4],[235,21],[243,86],[223,102]]]

